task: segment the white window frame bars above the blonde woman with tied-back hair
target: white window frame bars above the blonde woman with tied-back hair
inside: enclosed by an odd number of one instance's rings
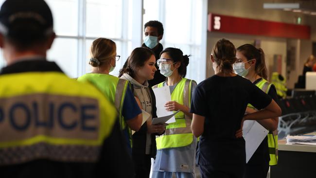
[[[132,25],[132,37],[128,39],[128,3],[129,0],[122,0],[122,37],[121,38],[112,38],[107,37],[114,41],[122,42],[122,53],[120,60],[126,60],[129,56],[128,52],[128,42],[132,43],[132,49],[136,47],[140,47],[141,45],[141,38],[142,38],[142,0],[133,0],[132,8],[133,8],[133,25]],[[87,36],[86,33],[86,21],[87,21],[87,0],[78,0],[78,33],[77,36],[64,36],[58,35],[56,38],[60,39],[76,39],[77,40],[77,76],[81,76],[87,72],[86,69],[86,62],[87,62],[87,40],[94,40],[100,36]]]

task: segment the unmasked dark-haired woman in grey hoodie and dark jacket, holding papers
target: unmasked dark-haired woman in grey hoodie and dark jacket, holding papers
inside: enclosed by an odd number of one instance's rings
[[[154,78],[156,58],[147,48],[136,48],[127,59],[127,66],[120,71],[121,78],[130,81],[134,95],[140,100],[143,110],[151,114],[140,130],[133,135],[132,158],[135,164],[136,178],[148,178],[151,167],[150,158],[156,157],[156,135],[165,131],[165,125],[152,125],[156,118],[156,98],[148,87],[148,80]]]

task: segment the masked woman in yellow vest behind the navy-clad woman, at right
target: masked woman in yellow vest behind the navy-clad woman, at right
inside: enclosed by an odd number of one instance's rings
[[[274,85],[267,82],[267,70],[265,67],[264,53],[261,48],[257,49],[251,44],[244,44],[237,48],[237,61],[234,64],[235,73],[250,80],[251,83],[262,89],[271,98],[278,102],[277,91]],[[248,105],[246,113],[256,112],[257,109]],[[276,153],[278,137],[273,136],[273,131],[278,128],[279,118],[270,118],[257,121],[268,129],[266,136],[251,159],[246,164],[244,178],[266,178],[270,165],[276,165],[278,155]],[[276,144],[276,146],[275,146]]]

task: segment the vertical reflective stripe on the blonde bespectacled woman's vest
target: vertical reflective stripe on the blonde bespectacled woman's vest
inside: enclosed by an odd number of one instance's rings
[[[122,97],[123,97],[123,91],[124,91],[124,88],[125,88],[125,83],[126,83],[126,80],[124,79],[119,79],[119,82],[116,86],[116,90],[115,90],[115,100],[114,100],[114,106],[117,110],[117,112],[119,113],[119,118],[120,118],[120,125],[121,125],[121,129],[124,129],[125,128],[125,122],[123,121],[123,117],[122,117],[122,106],[121,106],[121,101],[122,101]]]

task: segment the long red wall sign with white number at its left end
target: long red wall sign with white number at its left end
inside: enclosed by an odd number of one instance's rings
[[[208,31],[299,39],[310,39],[311,37],[311,29],[306,25],[237,18],[211,13],[209,14]]]

